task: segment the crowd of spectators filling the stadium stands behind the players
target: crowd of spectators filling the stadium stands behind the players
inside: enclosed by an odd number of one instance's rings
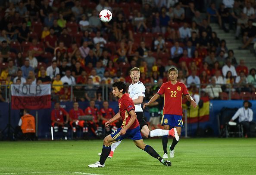
[[[178,81],[196,94],[200,87],[210,99],[228,99],[230,92],[234,99],[255,97],[256,69],[249,71],[243,59],[237,63],[234,51],[209,25],[236,30],[241,49],[247,48],[256,37],[255,1],[95,2],[2,0],[1,85],[50,83],[54,101],[102,101],[111,88],[100,85],[131,83],[129,70],[136,66],[140,81],[150,84],[148,100],[168,81],[166,71],[176,66]],[[112,11],[109,23],[98,18],[102,9]],[[87,85],[68,86],[78,84]],[[5,88],[9,86],[1,86],[0,101],[5,101]]]

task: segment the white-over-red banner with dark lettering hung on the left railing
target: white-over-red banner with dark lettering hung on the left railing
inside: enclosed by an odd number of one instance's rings
[[[12,109],[46,109],[51,107],[51,85],[12,84]]]

